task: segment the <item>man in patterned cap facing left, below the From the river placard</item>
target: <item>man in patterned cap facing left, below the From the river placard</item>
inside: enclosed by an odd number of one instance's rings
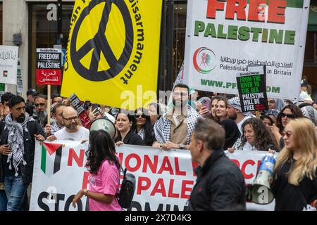
[[[244,121],[251,118],[251,113],[242,113],[241,103],[239,97],[230,98],[228,100],[227,114],[229,119],[235,120],[240,134],[243,134],[242,124]]]

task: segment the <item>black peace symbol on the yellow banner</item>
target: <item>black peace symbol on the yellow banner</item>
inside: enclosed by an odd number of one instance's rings
[[[76,50],[77,35],[80,30],[80,25],[82,21],[89,15],[90,11],[94,6],[106,2],[104,10],[102,12],[101,21],[99,23],[99,28],[97,34],[94,35],[92,39],[89,39],[80,49]],[[120,10],[123,21],[125,23],[125,46],[123,53],[120,58],[117,59],[114,55],[111,46],[106,39],[106,25],[108,23],[109,15],[111,12],[112,4],[115,4]],[[73,36],[70,42],[70,57],[72,59],[73,67],[76,72],[83,78],[89,79],[94,82],[101,82],[107,79],[116,77],[130,59],[133,48],[133,27],[132,20],[130,17],[130,12],[128,6],[123,0],[92,0],[89,5],[83,9],[77,23],[74,26]],[[93,50],[92,61],[90,63],[89,69],[85,68],[80,60]],[[101,52],[104,54],[110,69],[104,71],[98,71],[98,65],[100,61]]]

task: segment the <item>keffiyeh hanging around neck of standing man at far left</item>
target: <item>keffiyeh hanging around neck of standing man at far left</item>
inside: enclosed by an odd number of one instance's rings
[[[11,148],[11,153],[8,155],[9,169],[12,169],[11,158],[13,159],[13,167],[15,169],[15,176],[18,176],[18,165],[24,160],[24,141],[23,141],[23,129],[27,131],[27,122],[34,121],[27,113],[25,113],[25,120],[22,123],[12,120],[11,113],[6,115],[5,123],[6,129],[8,129],[8,145]],[[28,132],[28,131],[27,131]]]

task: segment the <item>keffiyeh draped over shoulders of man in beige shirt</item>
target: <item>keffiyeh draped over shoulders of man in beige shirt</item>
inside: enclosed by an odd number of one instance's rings
[[[190,136],[192,136],[192,131],[194,130],[197,119],[202,118],[196,110],[194,110],[190,105],[187,105],[187,144],[190,143]],[[154,124],[154,132],[156,140],[159,143],[166,143],[170,141],[170,120],[165,116],[162,116],[160,120],[156,121]]]

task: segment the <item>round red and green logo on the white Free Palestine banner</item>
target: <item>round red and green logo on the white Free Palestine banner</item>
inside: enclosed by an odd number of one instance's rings
[[[194,52],[194,68],[202,73],[207,74],[216,68],[216,54],[206,47],[201,47]]]

